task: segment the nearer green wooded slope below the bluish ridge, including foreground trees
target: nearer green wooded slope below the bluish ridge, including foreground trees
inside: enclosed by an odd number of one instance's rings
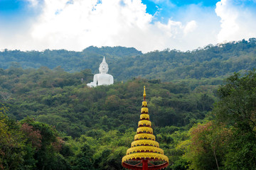
[[[255,167],[250,162],[256,146],[255,72],[233,74],[220,87],[138,78],[91,89],[86,86],[89,70],[2,69],[0,167],[123,169],[121,159],[136,134],[145,85],[152,128],[169,157],[168,170],[249,170]]]

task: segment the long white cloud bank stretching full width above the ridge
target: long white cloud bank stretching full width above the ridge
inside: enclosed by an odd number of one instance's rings
[[[20,26],[11,31],[0,27],[1,49],[80,51],[90,45],[121,45],[143,52],[166,48],[193,50],[217,43],[217,35],[222,40],[241,30],[241,14],[229,7],[228,0],[218,3],[215,11],[200,5],[186,6],[176,13],[179,21],[169,18],[167,23],[154,21],[140,0],[26,1],[31,1],[36,9],[41,8],[41,14],[27,21],[22,30],[16,29]],[[215,12],[222,18],[221,31]],[[245,12],[244,18],[245,14],[250,13]],[[248,25],[245,21],[242,24]]]

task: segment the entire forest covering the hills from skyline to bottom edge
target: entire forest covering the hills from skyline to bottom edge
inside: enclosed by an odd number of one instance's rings
[[[125,47],[4,50],[0,169],[122,169],[143,86],[167,169],[256,169],[255,44],[146,54]],[[89,88],[102,56],[114,84]]]

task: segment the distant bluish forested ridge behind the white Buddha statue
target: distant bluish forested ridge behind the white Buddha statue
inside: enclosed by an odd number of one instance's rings
[[[142,54],[134,48],[126,47],[87,47],[82,52],[5,50],[0,52],[0,67],[53,69],[60,66],[66,72],[91,69],[92,74],[95,74],[98,72],[102,57],[105,56],[110,67],[109,73],[114,76],[115,81],[127,81],[134,77],[161,81],[215,79],[255,68],[255,47],[256,39],[250,38],[248,41],[208,45],[188,52],[164,50]]]

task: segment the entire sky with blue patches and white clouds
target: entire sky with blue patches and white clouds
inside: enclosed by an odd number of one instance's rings
[[[255,0],[0,0],[0,50],[194,50],[256,37]]]

